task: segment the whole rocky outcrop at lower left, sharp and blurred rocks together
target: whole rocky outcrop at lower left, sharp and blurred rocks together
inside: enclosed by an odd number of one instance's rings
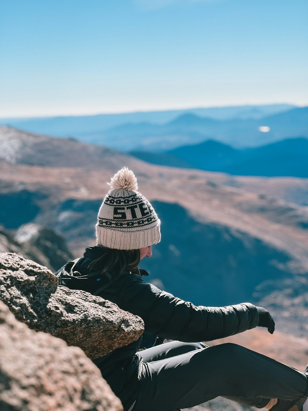
[[[138,339],[142,319],[14,253],[0,254],[0,300],[1,410],[123,410],[89,358]]]

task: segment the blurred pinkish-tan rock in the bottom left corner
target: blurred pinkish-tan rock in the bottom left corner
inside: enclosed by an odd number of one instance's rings
[[[78,347],[30,330],[0,301],[2,411],[120,411],[99,369]]]

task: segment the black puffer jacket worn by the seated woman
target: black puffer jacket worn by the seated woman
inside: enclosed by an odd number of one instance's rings
[[[99,256],[101,247],[87,248],[84,257],[77,261],[69,275],[65,274],[65,270],[59,270],[60,284],[95,293],[101,286],[101,280],[97,281],[101,276],[89,272],[87,266]],[[70,268],[69,265],[67,267]],[[108,283],[108,279],[105,281]],[[144,282],[139,274],[129,272],[98,295],[140,316],[145,323],[145,332],[183,342],[205,342],[227,337],[254,328],[259,321],[257,309],[248,302],[228,307],[197,307]],[[124,404],[129,403],[132,395],[131,387],[125,392],[125,384],[130,377],[136,376],[139,357],[135,353],[139,346],[140,339],[94,361]]]

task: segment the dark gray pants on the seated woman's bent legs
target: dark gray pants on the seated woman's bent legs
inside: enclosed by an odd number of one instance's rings
[[[303,372],[236,344],[169,342],[143,359],[133,411],[188,408],[218,396],[263,408],[269,398],[308,397]]]

